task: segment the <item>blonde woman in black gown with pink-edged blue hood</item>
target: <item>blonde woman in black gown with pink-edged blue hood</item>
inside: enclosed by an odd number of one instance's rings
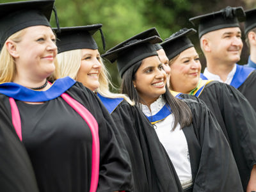
[[[23,150],[28,153],[40,192],[132,191],[127,151],[118,143],[113,119],[97,96],[70,77],[47,81],[53,72],[58,74],[56,36],[49,24],[53,4],[54,0],[0,4],[1,137],[5,129],[15,134],[6,140],[14,140],[8,142],[13,148],[19,143],[24,147],[16,154],[22,161],[27,160]],[[8,164],[4,160],[1,166]],[[13,165],[16,160],[7,159]],[[26,167],[15,168],[19,172]],[[4,174],[20,179],[22,172]],[[24,191],[21,181],[15,183],[16,191]],[[32,189],[28,191],[36,191]]]

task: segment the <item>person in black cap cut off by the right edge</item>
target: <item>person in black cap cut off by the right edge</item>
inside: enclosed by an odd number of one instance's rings
[[[247,67],[256,68],[256,9],[244,12],[246,19],[244,21],[245,42],[250,49]]]

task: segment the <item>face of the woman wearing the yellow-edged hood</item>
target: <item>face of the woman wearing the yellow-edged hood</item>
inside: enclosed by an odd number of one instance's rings
[[[189,93],[196,88],[200,78],[201,63],[194,47],[181,52],[170,67],[172,90]]]

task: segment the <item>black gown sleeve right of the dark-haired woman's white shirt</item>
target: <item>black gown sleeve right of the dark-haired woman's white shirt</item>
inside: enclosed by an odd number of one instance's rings
[[[182,129],[188,142],[193,191],[243,191],[236,161],[216,118],[198,98],[183,100],[193,114],[192,124]]]

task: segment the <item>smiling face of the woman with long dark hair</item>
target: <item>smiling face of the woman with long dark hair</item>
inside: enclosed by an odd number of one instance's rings
[[[144,104],[151,104],[166,92],[166,72],[158,56],[150,56],[142,61],[133,83]]]

